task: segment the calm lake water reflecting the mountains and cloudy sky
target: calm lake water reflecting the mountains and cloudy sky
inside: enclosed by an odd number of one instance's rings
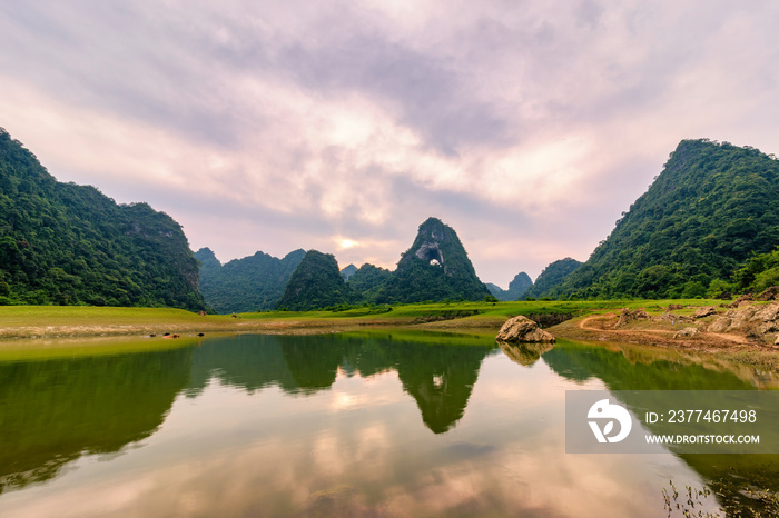
[[[772,382],[702,361],[388,332],[0,356],[0,516],[657,517],[669,480],[751,506],[776,456],[565,454],[565,390]]]

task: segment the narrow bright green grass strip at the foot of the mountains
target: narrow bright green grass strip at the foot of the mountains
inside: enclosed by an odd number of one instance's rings
[[[608,300],[415,303],[361,307],[344,311],[266,311],[199,316],[180,309],[86,306],[0,307],[0,338],[162,335],[164,332],[283,332],[363,326],[427,326],[447,329],[499,328],[516,315],[566,313],[573,317],[621,308],[660,313],[669,303],[706,306],[714,300]],[[689,310],[692,311],[692,310]]]

